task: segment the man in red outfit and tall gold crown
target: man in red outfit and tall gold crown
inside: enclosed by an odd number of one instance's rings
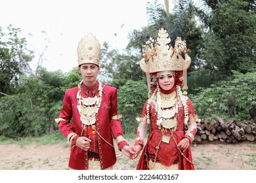
[[[100,71],[100,44],[91,33],[77,47],[78,71],[82,80],[66,90],[63,107],[56,119],[60,131],[71,144],[71,169],[112,169],[116,163],[113,137],[118,149],[134,152],[123,137],[117,115],[117,89],[97,80]]]

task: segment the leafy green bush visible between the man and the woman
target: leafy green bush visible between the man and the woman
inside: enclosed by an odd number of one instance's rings
[[[122,127],[124,133],[136,133],[137,122],[148,99],[148,88],[144,81],[127,80],[118,90],[118,112],[123,115]]]

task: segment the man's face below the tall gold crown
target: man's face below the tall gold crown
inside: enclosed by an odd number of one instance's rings
[[[81,73],[83,77],[83,82],[87,86],[92,86],[92,84],[96,83],[96,78],[98,75],[98,71],[100,71],[100,67],[93,63],[84,63],[77,68],[79,73]]]

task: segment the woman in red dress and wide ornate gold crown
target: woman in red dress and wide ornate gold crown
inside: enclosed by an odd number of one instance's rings
[[[186,69],[191,59],[186,54],[185,41],[178,37],[175,47],[169,48],[170,41],[167,31],[160,29],[157,42],[150,39],[143,47],[140,68],[148,75],[152,96],[146,101],[141,118],[137,118],[139,127],[133,146],[136,153],[130,156],[135,159],[142,150],[137,169],[194,169],[190,144],[198,118],[186,96]],[[144,145],[148,125],[150,133]]]

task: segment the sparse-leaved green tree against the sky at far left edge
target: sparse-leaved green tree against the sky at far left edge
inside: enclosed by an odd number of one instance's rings
[[[33,51],[27,48],[26,39],[20,38],[19,28],[9,25],[7,29],[9,33],[3,33],[0,27],[0,92],[11,94],[20,76],[30,73]]]

